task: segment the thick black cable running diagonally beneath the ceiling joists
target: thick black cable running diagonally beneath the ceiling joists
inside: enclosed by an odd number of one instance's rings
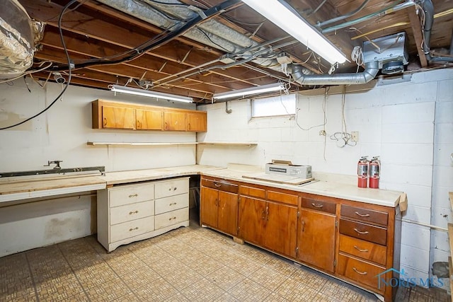
[[[161,45],[166,44],[167,42],[170,42],[174,38],[183,35],[186,31],[190,30],[190,28],[193,28],[195,25],[198,23],[201,23],[202,21],[205,21],[206,18],[212,18],[213,16],[217,16],[219,13],[223,13],[226,11],[228,8],[231,6],[234,6],[235,4],[239,4],[241,1],[240,0],[226,0],[222,2],[221,4],[217,6],[213,6],[212,8],[208,8],[204,13],[205,16],[196,16],[195,18],[192,18],[188,20],[184,25],[182,25],[178,30],[172,31],[171,33],[168,33],[164,37],[160,37],[157,40],[154,40],[154,42],[151,42],[147,47],[143,47],[140,50],[137,50],[135,54],[132,54],[128,57],[125,57],[123,59],[117,59],[114,61],[103,61],[103,59],[99,59],[98,62],[84,62],[81,64],[76,64],[74,65],[74,69],[81,69],[85,68],[88,66],[100,66],[100,65],[112,65],[112,64],[120,64],[123,62],[128,62],[131,61],[132,59],[137,58],[138,56],[144,54],[145,52],[149,50],[153,50],[156,47],[159,47]],[[55,69],[52,69],[52,71],[64,71],[67,70],[67,66],[59,66]]]

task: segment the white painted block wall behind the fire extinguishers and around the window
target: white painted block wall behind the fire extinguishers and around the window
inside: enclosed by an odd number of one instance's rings
[[[449,252],[446,233],[420,223],[446,227],[452,216],[447,192],[453,189],[448,159],[453,153],[453,70],[346,87],[345,121],[348,132],[359,132],[357,146],[338,148],[329,139],[342,129],[340,87],[326,95],[326,141],[319,135],[324,93],[316,89],[284,95],[298,98],[297,122],[294,117],[251,119],[249,100],[231,102],[231,114],[226,114],[224,103],[202,106],[201,110],[208,111],[208,132],[198,134],[199,141],[252,141],[258,146],[200,146],[198,162],[264,166],[272,159],[285,159],[312,165],[318,172],[355,175],[360,156],[381,156],[380,187],[408,194],[401,268],[410,277],[428,278],[432,261],[447,261]]]

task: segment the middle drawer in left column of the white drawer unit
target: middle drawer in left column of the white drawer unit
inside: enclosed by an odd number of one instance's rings
[[[110,225],[154,215],[154,200],[110,208]]]

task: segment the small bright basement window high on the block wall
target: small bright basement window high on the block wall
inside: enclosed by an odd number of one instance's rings
[[[252,117],[274,117],[277,115],[295,114],[295,94],[252,100]]]

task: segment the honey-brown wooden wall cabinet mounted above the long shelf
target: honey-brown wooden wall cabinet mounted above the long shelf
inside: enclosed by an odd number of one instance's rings
[[[93,129],[206,132],[207,112],[95,100]]]

